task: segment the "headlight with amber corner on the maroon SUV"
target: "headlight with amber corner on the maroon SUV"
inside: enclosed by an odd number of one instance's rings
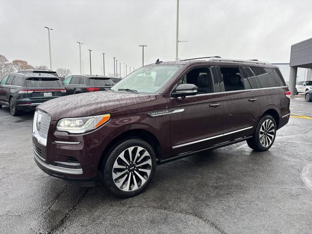
[[[106,123],[110,114],[90,117],[62,118],[57,124],[57,130],[68,133],[86,133]]]

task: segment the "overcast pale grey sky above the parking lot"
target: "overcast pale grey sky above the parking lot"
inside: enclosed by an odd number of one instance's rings
[[[312,37],[312,0],[180,0],[179,58],[289,62],[291,45]],[[176,0],[0,0],[0,54],[53,69],[113,73],[114,60],[138,68],[176,56]],[[119,66],[119,64],[118,64]],[[119,68],[118,68],[119,69]],[[121,71],[123,74],[123,71]]]

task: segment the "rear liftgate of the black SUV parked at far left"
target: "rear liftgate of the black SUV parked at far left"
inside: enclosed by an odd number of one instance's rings
[[[26,79],[29,99],[49,100],[65,95],[65,88],[59,78],[34,77]]]

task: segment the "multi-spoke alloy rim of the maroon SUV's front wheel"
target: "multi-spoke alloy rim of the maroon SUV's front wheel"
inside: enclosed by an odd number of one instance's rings
[[[152,171],[152,159],[146,149],[129,147],[115,160],[113,180],[118,189],[132,192],[142,187]]]

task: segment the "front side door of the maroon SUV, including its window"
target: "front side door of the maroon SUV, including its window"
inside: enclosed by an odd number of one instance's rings
[[[197,67],[179,79],[177,85],[195,84],[197,95],[169,98],[172,155],[222,142],[224,105],[222,96],[215,94],[211,69]]]

